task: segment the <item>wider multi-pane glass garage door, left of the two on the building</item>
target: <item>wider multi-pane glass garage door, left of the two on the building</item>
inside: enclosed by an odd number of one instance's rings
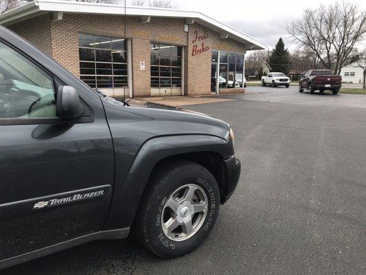
[[[91,88],[128,86],[126,40],[79,34],[80,79]]]

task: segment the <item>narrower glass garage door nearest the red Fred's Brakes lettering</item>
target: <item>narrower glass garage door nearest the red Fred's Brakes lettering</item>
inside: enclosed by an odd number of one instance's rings
[[[182,87],[182,47],[150,44],[151,87]]]

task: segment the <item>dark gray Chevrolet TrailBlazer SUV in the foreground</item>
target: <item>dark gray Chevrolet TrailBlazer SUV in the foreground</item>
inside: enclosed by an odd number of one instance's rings
[[[108,98],[0,27],[0,269],[129,233],[180,256],[239,175],[229,124]]]

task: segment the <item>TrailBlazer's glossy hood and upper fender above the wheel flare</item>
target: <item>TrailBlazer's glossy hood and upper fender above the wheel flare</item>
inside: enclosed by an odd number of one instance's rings
[[[125,131],[137,131],[150,137],[199,134],[229,140],[229,124],[204,113],[133,99],[126,100],[130,106],[124,106],[124,102],[114,98],[101,100],[111,131],[124,127]]]

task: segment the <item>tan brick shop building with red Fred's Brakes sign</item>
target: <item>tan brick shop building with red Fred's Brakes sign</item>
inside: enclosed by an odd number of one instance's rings
[[[0,24],[111,96],[239,93],[244,54],[266,48],[199,12],[124,14],[120,5],[38,0],[2,14]]]

